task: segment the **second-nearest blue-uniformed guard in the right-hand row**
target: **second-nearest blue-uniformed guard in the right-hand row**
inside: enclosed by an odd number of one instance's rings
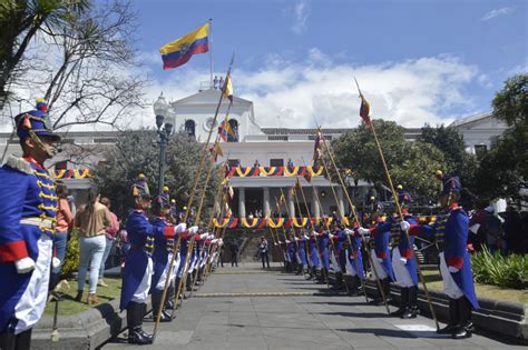
[[[418,310],[418,270],[417,260],[413,252],[414,238],[419,232],[419,226],[415,219],[409,213],[408,206],[411,201],[409,192],[398,186],[399,203],[402,208],[402,222],[398,212],[391,220],[392,238],[392,267],[394,277],[401,289],[400,307],[391,316],[402,319],[413,319]]]

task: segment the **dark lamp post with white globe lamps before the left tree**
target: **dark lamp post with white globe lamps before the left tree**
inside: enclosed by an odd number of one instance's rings
[[[167,149],[168,138],[173,133],[174,118],[170,111],[170,107],[163,97],[163,92],[158,100],[154,102],[154,114],[156,116],[156,128],[159,137],[159,191],[158,194],[163,193],[165,186],[165,151]],[[167,118],[167,121],[165,121]]]

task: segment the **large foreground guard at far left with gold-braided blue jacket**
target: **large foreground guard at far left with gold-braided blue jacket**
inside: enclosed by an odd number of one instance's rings
[[[57,193],[43,166],[60,138],[48,127],[47,104],[16,117],[23,157],[0,169],[0,349],[29,349],[42,316],[53,258]]]

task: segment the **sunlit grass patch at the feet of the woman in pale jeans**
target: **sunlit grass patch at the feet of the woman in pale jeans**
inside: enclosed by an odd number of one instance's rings
[[[85,284],[85,293],[82,294],[82,302],[77,302],[74,298],[77,296],[77,280],[68,281],[70,289],[66,292],[63,300],[59,301],[59,316],[71,316],[86,310],[91,307],[86,302],[88,298],[88,282]],[[97,287],[98,303],[101,304],[114,299],[120,298],[121,294],[121,278],[105,278],[108,287]],[[96,306],[97,306],[96,304]],[[49,302],[46,306],[45,314],[52,316],[55,310],[55,302]]]

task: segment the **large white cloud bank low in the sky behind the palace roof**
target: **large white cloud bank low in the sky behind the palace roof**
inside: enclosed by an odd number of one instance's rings
[[[487,77],[475,66],[452,56],[426,57],[400,62],[355,66],[336,64],[324,52],[311,49],[303,62],[276,64],[274,56],[258,71],[233,72],[235,94],[254,102],[262,127],[276,127],[277,116],[285,128],[314,127],[314,117],[324,127],[350,128],[360,122],[360,100],[353,78],[372,104],[372,117],[393,120],[405,127],[450,123],[478,108],[467,89],[486,86]],[[160,91],[178,100],[196,93],[207,71],[168,71],[163,82],[147,91],[155,101]],[[143,126],[154,123],[151,108],[136,117]]]

